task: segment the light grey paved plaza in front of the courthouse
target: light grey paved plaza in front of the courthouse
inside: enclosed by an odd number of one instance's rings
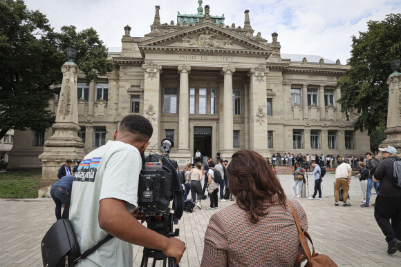
[[[281,184],[290,198],[292,175],[281,175]],[[299,198],[308,215],[309,230],[315,249],[331,257],[338,266],[401,266],[401,253],[386,253],[386,241],[373,217],[374,208],[360,208],[360,184],[351,181],[351,207],[334,206],[333,173],[323,181],[323,200]],[[313,176],[309,176],[309,192],[313,193]],[[308,194],[307,194],[308,196]],[[371,204],[375,202],[372,195]],[[218,203],[218,209],[184,212],[178,227],[187,250],[180,266],[199,266],[203,255],[203,238],[209,218],[234,201]],[[0,266],[41,266],[40,242],[55,221],[52,199],[0,199]],[[269,233],[266,233],[269,235]],[[134,246],[134,266],[140,266],[142,248]],[[149,264],[150,266],[150,264]]]

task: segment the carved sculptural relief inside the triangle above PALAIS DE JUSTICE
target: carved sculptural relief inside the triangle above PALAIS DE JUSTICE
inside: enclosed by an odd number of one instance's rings
[[[189,46],[201,46],[202,48],[227,48],[232,46],[232,40],[217,32],[210,33],[209,30],[189,34],[181,39]]]

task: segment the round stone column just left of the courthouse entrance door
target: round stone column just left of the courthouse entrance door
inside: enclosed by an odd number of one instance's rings
[[[180,103],[178,123],[178,153],[183,157],[191,157],[189,152],[189,81],[188,75],[191,67],[187,65],[178,66],[180,73]],[[187,155],[183,155],[183,153]]]

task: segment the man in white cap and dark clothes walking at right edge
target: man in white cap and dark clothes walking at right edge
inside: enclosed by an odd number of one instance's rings
[[[401,250],[401,188],[393,184],[394,161],[400,161],[393,146],[379,148],[383,160],[377,165],[373,181],[380,181],[375,203],[375,219],[389,243],[387,253]],[[393,159],[393,160],[391,160]],[[391,224],[390,224],[391,219]]]

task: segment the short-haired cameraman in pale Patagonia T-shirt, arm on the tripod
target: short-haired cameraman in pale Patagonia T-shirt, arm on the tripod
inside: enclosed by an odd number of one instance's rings
[[[122,119],[113,141],[90,152],[82,160],[73,182],[70,219],[81,253],[109,233],[113,235],[77,266],[133,266],[131,244],[162,250],[180,261],[185,243],[150,230],[138,220],[140,153],[149,146],[151,123],[140,115]],[[133,210],[129,212],[129,210]]]

